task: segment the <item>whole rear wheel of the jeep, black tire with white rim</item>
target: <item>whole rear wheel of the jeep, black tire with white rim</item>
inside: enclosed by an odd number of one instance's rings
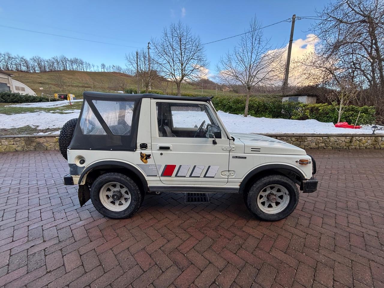
[[[137,184],[121,173],[106,173],[94,180],[91,201],[105,217],[131,217],[141,206],[143,195]]]

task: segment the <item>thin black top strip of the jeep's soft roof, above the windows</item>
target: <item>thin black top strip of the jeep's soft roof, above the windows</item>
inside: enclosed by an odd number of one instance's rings
[[[163,99],[163,100],[184,100],[184,101],[210,101],[212,97],[187,97],[187,96],[171,96],[171,95],[160,95],[160,94],[122,94],[122,93],[103,93],[103,92],[93,92],[93,91],[84,91],[84,98],[109,98],[109,99],[119,99],[119,100],[136,100],[142,98],[152,98],[152,99]]]

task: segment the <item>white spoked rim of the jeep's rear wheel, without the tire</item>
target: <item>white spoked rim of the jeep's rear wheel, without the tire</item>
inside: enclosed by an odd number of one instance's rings
[[[122,211],[131,204],[131,193],[119,182],[108,182],[99,192],[100,202],[111,211]]]

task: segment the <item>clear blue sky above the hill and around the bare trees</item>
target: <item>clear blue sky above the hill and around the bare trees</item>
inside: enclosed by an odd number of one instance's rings
[[[0,2],[0,25],[84,38],[119,45],[146,47],[151,36],[160,36],[164,26],[181,20],[203,43],[242,33],[256,15],[263,24],[297,16],[312,16],[329,0],[269,1],[85,1],[35,0]],[[305,39],[313,20],[296,21],[294,39]],[[286,45],[291,23],[264,29],[275,45]],[[100,65],[125,65],[124,55],[136,48],[91,43],[0,26],[0,52],[49,58],[55,55],[79,57]],[[237,38],[205,45],[210,73]]]

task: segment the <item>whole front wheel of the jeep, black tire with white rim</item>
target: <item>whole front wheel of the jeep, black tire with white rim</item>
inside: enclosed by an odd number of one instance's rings
[[[278,221],[295,210],[299,202],[299,191],[288,177],[268,175],[252,185],[244,200],[247,208],[258,219]]]

